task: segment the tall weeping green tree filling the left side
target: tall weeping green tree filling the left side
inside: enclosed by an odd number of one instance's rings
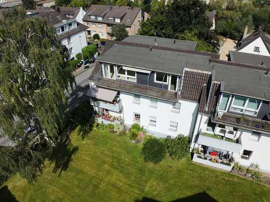
[[[65,126],[64,90],[74,82],[69,52],[44,19],[21,7],[0,17],[0,133],[14,147],[4,151],[0,172],[18,172],[28,182],[42,172],[44,158]]]

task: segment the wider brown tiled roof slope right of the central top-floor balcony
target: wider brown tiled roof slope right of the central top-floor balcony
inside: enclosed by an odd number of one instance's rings
[[[185,70],[182,75],[180,99],[199,102],[204,84],[209,82],[210,73]]]

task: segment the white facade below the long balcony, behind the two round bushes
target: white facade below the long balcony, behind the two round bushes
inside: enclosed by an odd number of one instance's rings
[[[128,126],[137,123],[133,113],[141,115],[140,125],[157,136],[191,135],[197,114],[198,104],[180,100],[180,112],[172,112],[172,103],[158,100],[157,108],[150,107],[150,98],[141,96],[140,104],[133,103],[133,94],[120,92],[123,105],[124,123]],[[149,126],[149,116],[156,117],[156,127]],[[170,121],[177,122],[177,132],[169,130]]]

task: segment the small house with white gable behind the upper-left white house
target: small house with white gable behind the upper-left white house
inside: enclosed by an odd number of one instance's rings
[[[58,12],[60,12],[62,15],[65,15],[69,18],[76,19],[77,22],[80,22],[83,24],[83,17],[86,14],[86,11],[82,7],[77,8],[77,7],[56,7],[55,8]]]

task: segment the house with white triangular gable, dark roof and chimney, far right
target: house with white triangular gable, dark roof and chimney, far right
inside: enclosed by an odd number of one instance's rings
[[[270,56],[270,35],[263,32],[261,28],[250,34],[248,33],[248,27],[246,26],[242,38],[238,41],[237,51]]]

